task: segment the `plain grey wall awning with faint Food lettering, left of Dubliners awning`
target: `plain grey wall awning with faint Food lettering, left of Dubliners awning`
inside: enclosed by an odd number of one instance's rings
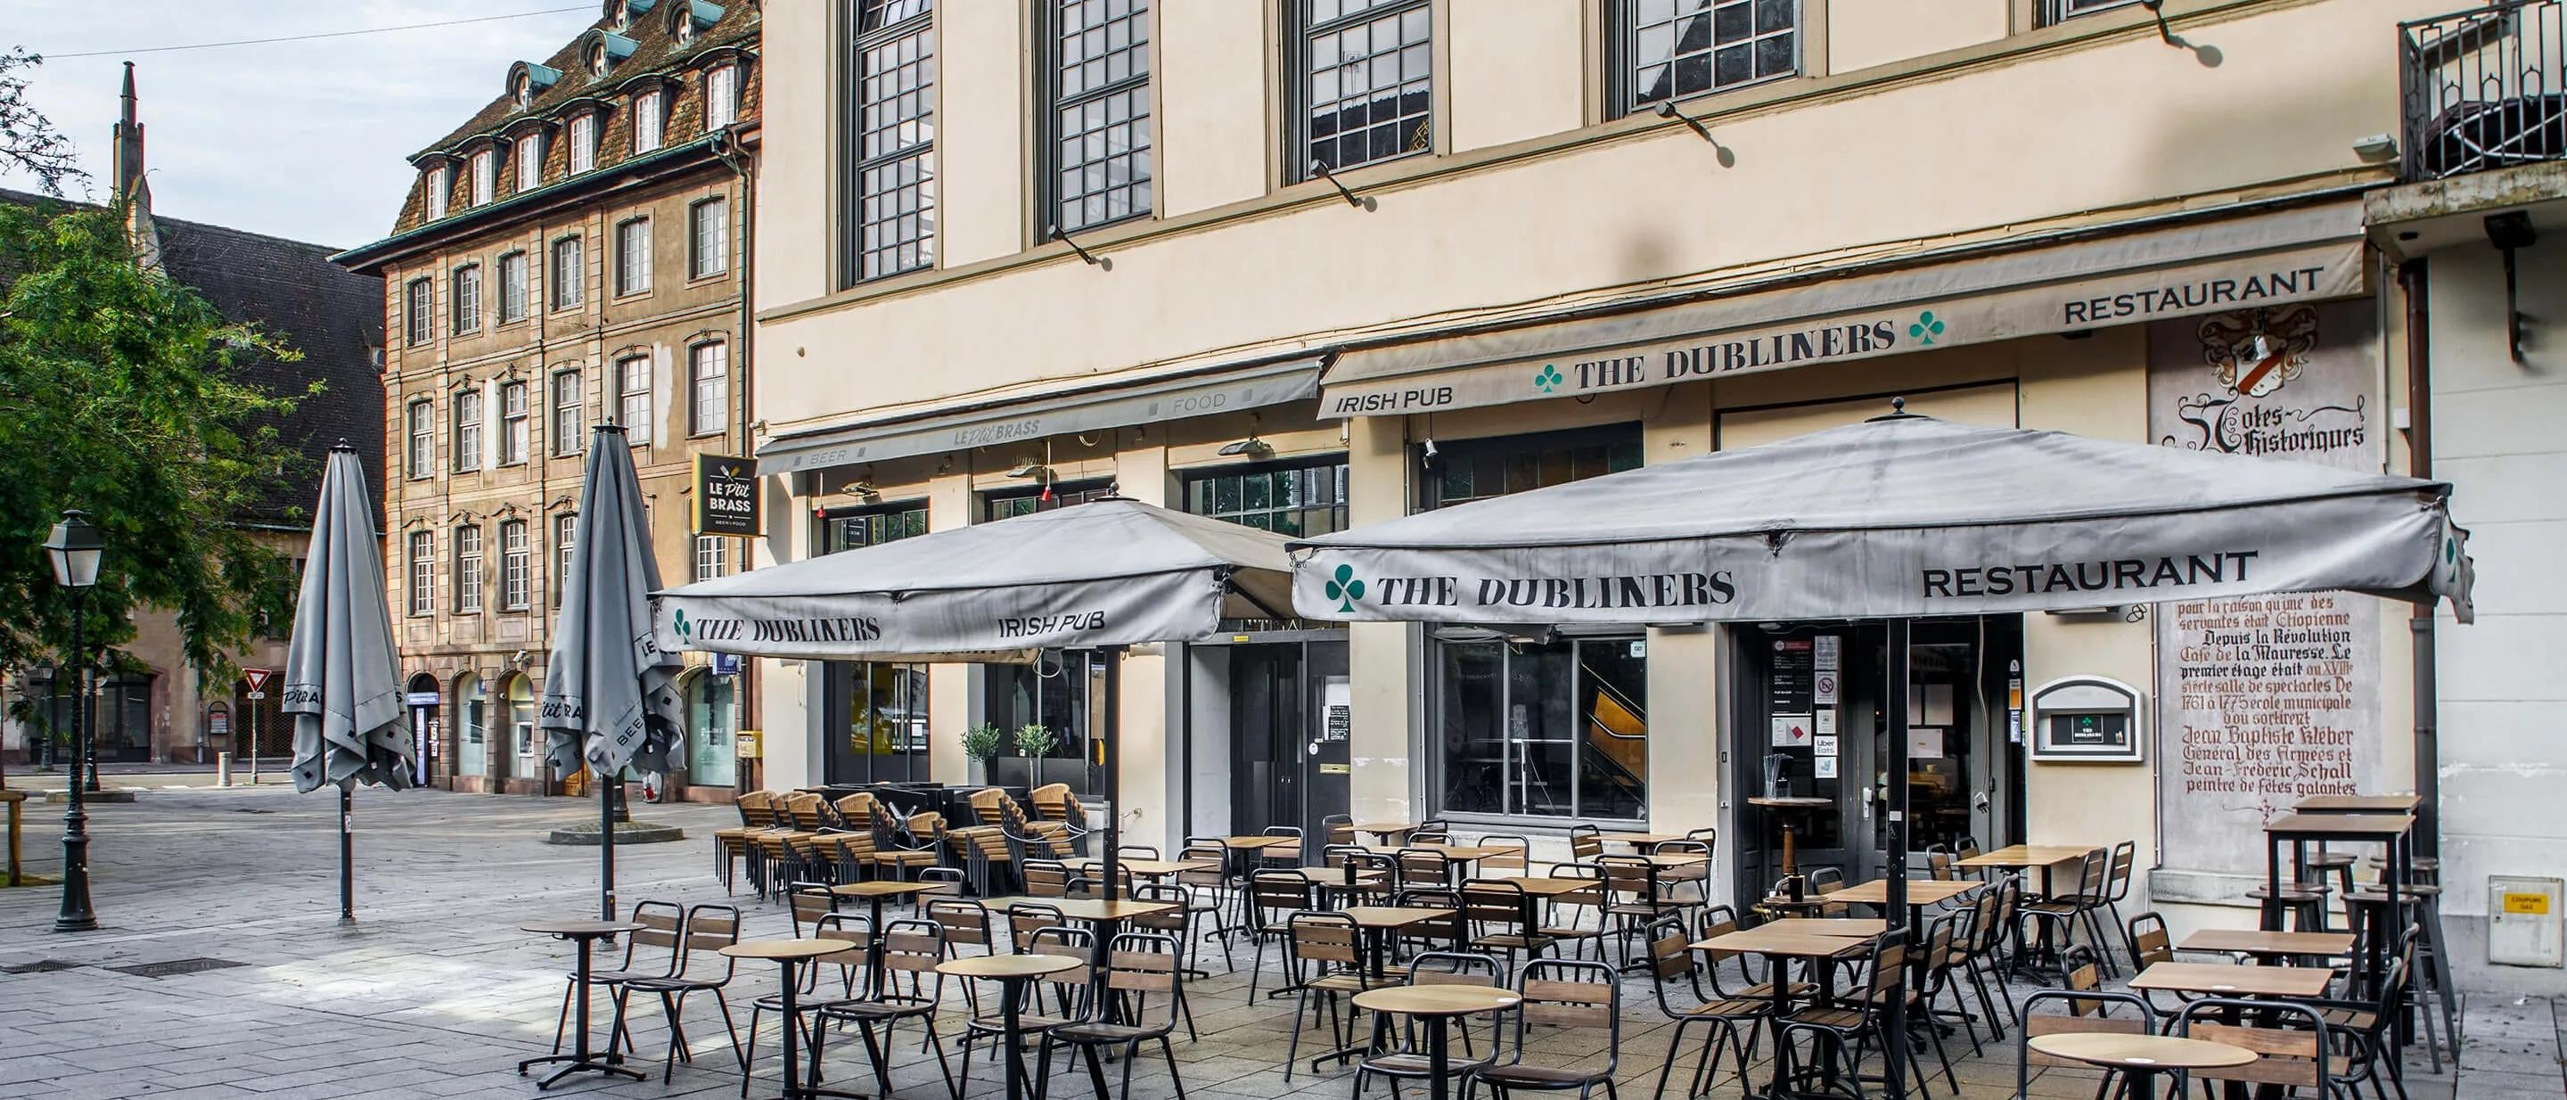
[[[1047,434],[1158,424],[1240,409],[1307,401],[1319,393],[1322,355],[1199,370],[1142,383],[1109,383],[922,409],[901,416],[791,432],[757,447],[757,473],[821,470],[945,450],[991,447]]]

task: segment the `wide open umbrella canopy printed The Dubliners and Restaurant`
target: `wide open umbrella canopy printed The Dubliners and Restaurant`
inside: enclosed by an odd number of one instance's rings
[[[2451,486],[1879,416],[1294,540],[1309,619],[2002,614],[2349,589],[2469,619]]]

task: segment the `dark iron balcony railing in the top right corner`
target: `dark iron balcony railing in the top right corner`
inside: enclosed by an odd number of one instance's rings
[[[2567,159],[2567,0],[2398,23],[2408,180]]]

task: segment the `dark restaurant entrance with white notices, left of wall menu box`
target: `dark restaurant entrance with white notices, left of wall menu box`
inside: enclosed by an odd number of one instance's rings
[[[1740,696],[1733,709],[1733,781],[1740,838],[1738,902],[1781,876],[1789,822],[1802,874],[1835,869],[1848,884],[1887,874],[1882,804],[1889,797],[1887,645],[1882,625],[1735,627]],[[2020,840],[2020,753],[2010,743],[2007,676],[2023,658],[2018,617],[1928,619],[1910,643],[1907,848],[1982,848]],[[1766,810],[1766,794],[1828,799]]]

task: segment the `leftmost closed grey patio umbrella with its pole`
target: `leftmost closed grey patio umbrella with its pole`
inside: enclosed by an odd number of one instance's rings
[[[357,920],[349,789],[411,786],[416,748],[400,709],[398,653],[375,550],[375,504],[357,450],[341,439],[321,473],[282,686],[282,709],[295,717],[295,792],[339,789],[339,923]]]

